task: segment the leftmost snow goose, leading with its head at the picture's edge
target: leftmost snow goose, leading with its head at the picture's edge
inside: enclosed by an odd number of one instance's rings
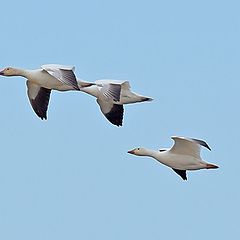
[[[3,76],[22,76],[27,79],[27,94],[33,110],[41,119],[47,119],[51,90],[79,90],[74,67],[49,64],[41,69],[24,70],[7,67],[0,71]]]

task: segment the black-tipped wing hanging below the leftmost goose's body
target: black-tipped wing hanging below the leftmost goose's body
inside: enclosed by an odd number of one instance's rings
[[[42,120],[47,119],[51,89],[43,88],[35,83],[27,81],[27,94],[34,112]]]

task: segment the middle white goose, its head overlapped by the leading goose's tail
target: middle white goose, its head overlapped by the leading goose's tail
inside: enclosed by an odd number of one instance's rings
[[[153,100],[133,93],[128,81],[97,80],[87,83],[78,80],[80,91],[97,98],[97,103],[104,116],[114,125],[122,126],[123,105]]]

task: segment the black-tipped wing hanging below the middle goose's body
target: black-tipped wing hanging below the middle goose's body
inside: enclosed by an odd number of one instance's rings
[[[100,99],[97,99],[97,103],[109,122],[118,127],[122,126],[124,112],[123,105],[114,104],[110,101],[104,101]]]

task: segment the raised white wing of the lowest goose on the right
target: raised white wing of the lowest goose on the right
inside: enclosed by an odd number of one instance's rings
[[[170,151],[175,154],[190,155],[196,158],[200,158],[201,146],[204,146],[211,150],[207,143],[203,140],[176,136],[172,137],[172,139],[174,140],[174,145]]]

